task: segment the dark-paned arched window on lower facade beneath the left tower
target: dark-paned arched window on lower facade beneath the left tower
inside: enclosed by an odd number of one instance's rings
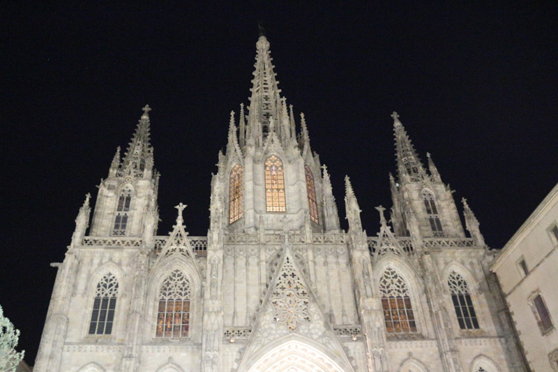
[[[118,296],[116,276],[108,273],[97,283],[89,334],[110,334],[114,322],[114,308]]]

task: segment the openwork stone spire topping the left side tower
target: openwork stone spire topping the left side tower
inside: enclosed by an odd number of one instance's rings
[[[149,143],[149,111],[151,111],[151,107],[145,105],[142,110],[144,110],[144,113],[137,124],[132,140],[128,144],[122,162],[124,173],[135,177],[144,177],[144,174],[151,174],[151,169],[146,168],[153,166],[153,147]],[[148,172],[144,172],[145,170]]]

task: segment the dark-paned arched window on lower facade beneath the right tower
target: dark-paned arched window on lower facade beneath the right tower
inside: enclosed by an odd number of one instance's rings
[[[460,274],[452,271],[448,277],[448,286],[459,327],[461,329],[478,329],[475,308],[465,279]]]

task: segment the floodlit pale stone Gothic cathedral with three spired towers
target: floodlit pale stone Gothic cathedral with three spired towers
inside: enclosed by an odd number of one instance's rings
[[[389,216],[377,207],[368,235],[358,202],[368,195],[345,177],[345,232],[265,36],[256,48],[250,104],[232,112],[218,154],[207,235],[188,235],[182,203],[172,232],[157,235],[146,105],[98,186],[93,216],[88,194],[66,257],[51,264],[33,371],[527,371],[488,270],[495,252],[465,199],[464,228],[399,115]]]

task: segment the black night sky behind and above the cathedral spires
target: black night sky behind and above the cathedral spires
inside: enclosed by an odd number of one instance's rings
[[[63,260],[84,195],[94,203],[146,103],[162,174],[159,234],[179,202],[190,235],[206,234],[229,112],[250,95],[258,20],[282,94],[306,114],[329,166],[342,228],[345,174],[369,235],[373,207],[391,206],[395,110],[502,248],[558,181],[557,3],[393,3],[0,3],[0,304],[29,363],[54,284],[49,264]]]

